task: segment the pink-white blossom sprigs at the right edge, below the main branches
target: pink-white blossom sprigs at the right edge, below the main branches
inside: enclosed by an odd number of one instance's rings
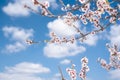
[[[106,44],[106,46],[110,52],[109,63],[107,64],[107,62],[101,58],[98,58],[98,62],[100,62],[101,66],[107,70],[112,68],[120,69],[120,52],[117,50],[117,46],[114,45],[114,47],[110,47],[108,44]]]

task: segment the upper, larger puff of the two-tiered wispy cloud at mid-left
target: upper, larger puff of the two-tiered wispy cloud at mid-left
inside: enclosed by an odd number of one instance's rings
[[[4,35],[12,40],[24,41],[33,36],[33,29],[23,29],[14,26],[3,27]]]

